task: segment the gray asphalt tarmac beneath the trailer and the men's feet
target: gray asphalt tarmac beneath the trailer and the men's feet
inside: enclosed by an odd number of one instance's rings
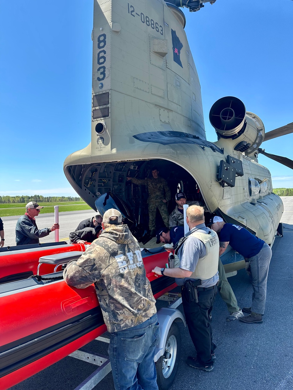
[[[216,361],[212,372],[195,370],[186,365],[194,347],[188,329],[179,324],[182,337],[180,364],[171,390],[291,390],[293,388],[292,329],[292,240],[293,197],[282,198],[285,213],[284,237],[277,237],[267,284],[266,312],[262,324],[227,322],[227,308],[216,297],[212,312]],[[89,213],[90,215],[90,213]],[[41,225],[41,223],[40,223]],[[252,286],[245,270],[229,278],[240,307],[251,305]],[[166,306],[157,301],[157,307]],[[182,310],[182,305],[179,307]],[[93,341],[85,346],[89,351],[107,354],[107,344]],[[96,366],[66,357],[38,374],[13,386],[12,390],[73,390]],[[114,390],[109,373],[96,387]],[[146,389],[147,390],[147,389]]]

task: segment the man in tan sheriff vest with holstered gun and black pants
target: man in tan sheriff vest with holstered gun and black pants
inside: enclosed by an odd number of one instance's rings
[[[179,241],[175,254],[180,259],[177,268],[155,267],[156,275],[175,278],[182,286],[182,304],[186,323],[197,357],[188,356],[186,363],[193,368],[212,371],[214,350],[210,315],[217,293],[219,239],[204,224],[204,208],[189,206],[186,211],[189,232]],[[177,252],[177,253],[176,253]]]

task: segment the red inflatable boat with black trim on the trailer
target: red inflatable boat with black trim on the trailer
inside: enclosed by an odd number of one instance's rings
[[[75,289],[64,282],[62,271],[53,273],[70,256],[79,257],[78,252],[84,250],[84,245],[54,243],[27,251],[16,249],[9,255],[0,252],[4,268],[0,285],[0,390],[36,374],[106,331],[94,286]],[[168,252],[160,247],[142,250],[142,255],[155,298],[173,289],[173,278],[155,278],[151,272],[154,266],[166,264]],[[41,260],[39,273],[45,272],[46,280],[9,282],[9,278],[20,279],[27,272],[36,274],[40,257],[45,262]]]

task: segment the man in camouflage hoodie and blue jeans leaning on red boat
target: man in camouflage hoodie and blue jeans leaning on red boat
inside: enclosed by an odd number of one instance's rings
[[[154,356],[160,331],[138,241],[116,209],[105,212],[102,227],[79,260],[68,263],[64,280],[79,289],[95,283],[110,333],[115,389],[157,390]]]

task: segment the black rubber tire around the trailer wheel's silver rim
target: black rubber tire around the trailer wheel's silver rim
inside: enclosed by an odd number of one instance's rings
[[[159,360],[157,360],[157,362],[155,363],[155,368],[157,371],[157,384],[159,390],[168,390],[168,388],[172,386],[172,383],[174,382],[178,370],[179,359],[181,354],[181,335],[180,335],[179,327],[175,322],[173,322],[168,332],[165,348],[168,348],[168,342],[170,342],[170,340],[172,341],[173,344],[176,340],[176,352],[175,352],[176,357],[173,356],[173,359],[175,358],[175,363],[173,365],[172,371],[169,370],[169,372],[166,372],[166,369],[163,372],[163,364],[166,365],[166,360],[163,361],[164,355],[161,356]],[[170,358],[170,360],[171,359],[172,357]],[[167,376],[167,378],[165,378],[164,373]]]

